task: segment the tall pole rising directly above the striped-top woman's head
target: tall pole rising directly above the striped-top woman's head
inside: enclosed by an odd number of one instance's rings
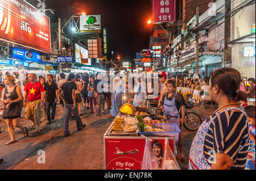
[[[224,26],[224,65],[225,62],[231,62],[231,47],[228,46],[230,41],[230,11],[231,11],[231,3],[225,0],[225,26]]]

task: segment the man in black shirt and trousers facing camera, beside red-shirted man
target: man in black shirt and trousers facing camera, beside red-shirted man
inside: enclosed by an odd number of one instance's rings
[[[45,93],[44,98],[46,103],[46,110],[47,110],[47,124],[52,122],[55,122],[55,112],[56,112],[56,103],[57,103],[57,97],[58,97],[58,86],[56,83],[53,83],[53,77],[52,75],[47,75],[47,83],[44,85]],[[51,108],[52,108],[52,114],[51,114]]]

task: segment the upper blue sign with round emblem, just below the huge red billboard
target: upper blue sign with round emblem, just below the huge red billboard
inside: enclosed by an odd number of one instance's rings
[[[13,48],[13,58],[17,58],[19,60],[27,60],[31,62],[40,62],[42,59],[39,53],[19,48]]]

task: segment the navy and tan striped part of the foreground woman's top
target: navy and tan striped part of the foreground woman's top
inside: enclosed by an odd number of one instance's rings
[[[214,117],[213,113],[206,121]],[[205,136],[204,155],[209,162],[212,151],[225,153],[234,161],[230,169],[245,169],[246,158],[249,150],[249,124],[244,113],[228,110],[220,113],[212,123]],[[209,161],[208,161],[209,159]]]

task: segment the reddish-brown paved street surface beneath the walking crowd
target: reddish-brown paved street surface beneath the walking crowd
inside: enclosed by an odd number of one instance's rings
[[[0,134],[0,158],[5,160],[0,165],[0,169],[103,169],[103,135],[114,117],[106,114],[95,118],[89,110],[84,109],[82,110],[84,115],[81,117],[82,122],[86,124],[85,129],[77,131],[76,122],[72,120],[69,123],[72,136],[64,137],[63,108],[57,107],[56,112],[55,123],[47,125],[46,121],[43,121],[39,133],[36,129],[28,128],[27,138],[24,138],[22,131],[15,128],[18,142],[14,144],[6,146],[5,142],[9,141],[10,137],[6,132]],[[31,121],[24,119],[20,121],[26,127],[31,124]],[[181,169],[188,169],[189,148],[196,132],[190,132],[184,128],[181,131],[185,160],[178,162]],[[42,161],[40,150],[45,151],[46,163],[38,163],[38,160]]]

